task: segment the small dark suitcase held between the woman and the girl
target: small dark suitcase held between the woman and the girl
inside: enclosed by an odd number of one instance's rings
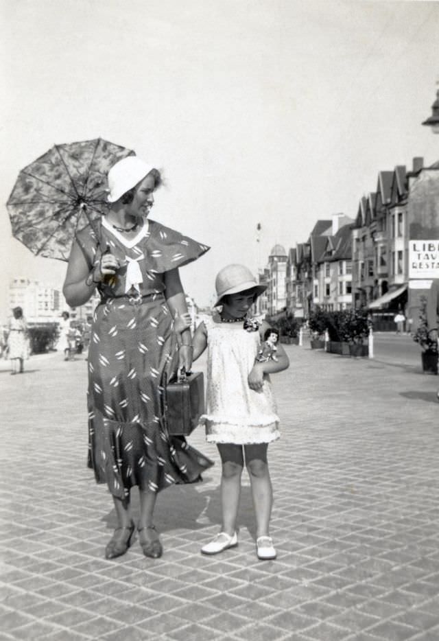
[[[193,372],[165,382],[165,418],[167,431],[175,436],[189,436],[204,413],[204,375]]]

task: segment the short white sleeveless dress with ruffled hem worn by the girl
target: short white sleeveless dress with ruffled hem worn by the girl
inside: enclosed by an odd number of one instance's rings
[[[248,375],[261,344],[259,331],[243,323],[204,321],[207,332],[206,414],[200,422],[209,443],[270,443],[279,438],[276,403],[269,377],[261,392],[248,386]]]

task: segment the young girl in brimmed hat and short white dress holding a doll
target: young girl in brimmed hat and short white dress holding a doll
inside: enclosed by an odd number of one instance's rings
[[[222,528],[201,552],[215,555],[237,546],[237,511],[244,461],[250,476],[257,522],[257,557],[274,559],[269,534],[272,485],[268,443],[278,439],[278,417],[268,374],[282,371],[289,360],[279,345],[277,360],[257,362],[268,323],[248,322],[246,316],[266,289],[243,265],[228,265],[215,281],[221,311],[198,325],[193,336],[193,360],[208,349],[207,412],[202,417],[206,440],[216,443],[222,461]],[[247,320],[247,322],[245,322]],[[176,319],[179,332],[189,326],[187,315]]]

